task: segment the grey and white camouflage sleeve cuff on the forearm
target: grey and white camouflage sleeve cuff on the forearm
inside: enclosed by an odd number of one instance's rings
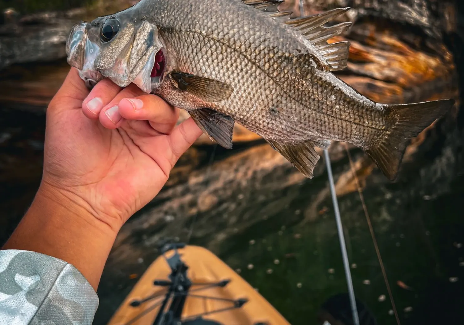
[[[0,251],[0,324],[90,325],[97,306],[97,294],[71,264]]]

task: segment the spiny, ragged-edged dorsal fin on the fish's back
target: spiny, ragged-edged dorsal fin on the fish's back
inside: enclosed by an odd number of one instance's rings
[[[330,27],[323,25],[346,13],[350,7],[336,8],[325,13],[313,16],[290,19],[293,12],[280,12],[278,7],[284,0],[241,0],[249,6],[261,11],[271,13],[269,16],[282,21],[296,31],[300,32],[309,43],[321,54],[322,64],[329,70],[336,71],[346,68],[350,43],[342,41],[329,44],[327,41],[334,36],[346,32],[352,25],[351,22],[340,23]]]

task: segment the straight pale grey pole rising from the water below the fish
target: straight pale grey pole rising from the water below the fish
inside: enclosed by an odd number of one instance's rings
[[[332,202],[334,204],[335,220],[337,221],[338,237],[340,240],[340,247],[342,248],[343,267],[345,268],[345,276],[347,278],[348,293],[351,303],[351,312],[353,314],[354,325],[359,325],[358,308],[356,307],[356,300],[354,299],[353,280],[351,279],[351,271],[349,269],[349,260],[347,247],[345,246],[345,238],[343,236],[342,218],[340,217],[340,210],[338,209],[337,193],[335,192],[334,176],[332,175],[332,167],[330,166],[329,150],[324,150],[325,164],[327,166],[327,174],[329,175],[330,193],[332,194]]]

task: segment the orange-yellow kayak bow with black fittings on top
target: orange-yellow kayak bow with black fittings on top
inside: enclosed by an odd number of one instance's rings
[[[203,247],[168,243],[108,325],[290,325]]]

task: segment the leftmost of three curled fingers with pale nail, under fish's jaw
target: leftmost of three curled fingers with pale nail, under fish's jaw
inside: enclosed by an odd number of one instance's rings
[[[121,89],[110,79],[99,81],[82,103],[84,115],[92,120],[97,120],[103,107],[108,105]]]

